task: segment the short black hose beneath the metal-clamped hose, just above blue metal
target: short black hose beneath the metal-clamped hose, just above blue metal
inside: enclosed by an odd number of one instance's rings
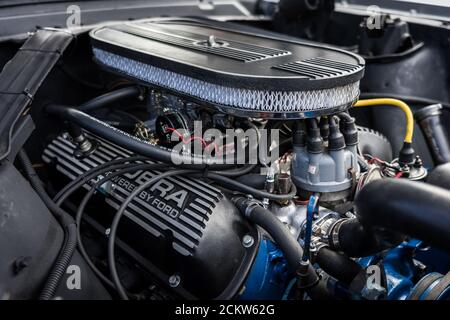
[[[346,257],[327,247],[319,249],[315,262],[333,278],[349,285],[361,272],[362,267],[349,257]]]

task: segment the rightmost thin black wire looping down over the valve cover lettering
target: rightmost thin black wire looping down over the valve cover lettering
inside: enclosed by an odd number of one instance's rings
[[[152,177],[147,182],[141,184],[139,187],[133,190],[133,192],[126,198],[126,200],[122,203],[119,210],[117,211],[116,215],[114,216],[113,222],[111,223],[111,231],[109,234],[109,240],[108,240],[108,266],[109,271],[111,273],[112,281],[116,287],[117,292],[119,293],[119,296],[123,300],[128,300],[128,295],[125,291],[125,288],[123,287],[119,275],[117,273],[117,267],[116,267],[116,260],[115,260],[115,241],[116,241],[116,234],[117,234],[117,228],[119,226],[120,219],[122,218],[123,214],[125,213],[125,209],[128,207],[130,202],[139,195],[143,190],[150,187],[152,184],[158,182],[161,179],[164,179],[166,177],[174,176],[174,175],[183,175],[187,173],[195,172],[194,170],[173,170],[164,172],[158,176]]]

